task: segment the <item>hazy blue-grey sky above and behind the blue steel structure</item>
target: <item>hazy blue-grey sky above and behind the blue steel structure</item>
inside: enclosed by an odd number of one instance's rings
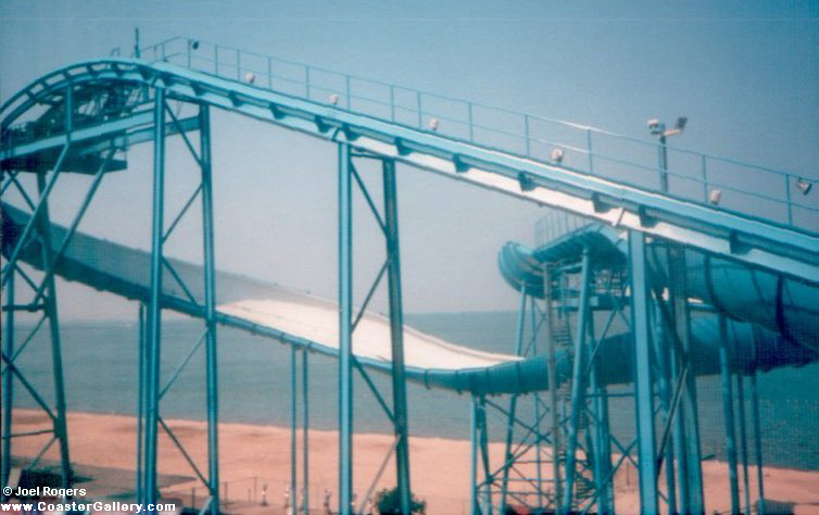
[[[645,137],[645,121],[689,117],[677,145],[818,177],[819,2],[0,1],[0,98],[72,62],[185,36],[479,102]],[[236,115],[214,115],[219,268],[336,296],[336,149]],[[169,142],[167,217],[196,169]],[[81,230],[150,244],[150,146],[106,177]],[[380,199],[378,173],[362,171]],[[53,217],[87,188],[64,177]],[[513,309],[496,271],[531,243],[544,211],[399,167],[406,311]],[[383,243],[356,197],[363,299]],[[168,252],[198,260],[198,223]],[[135,306],[61,284],[64,317],[130,317]],[[385,296],[376,299],[383,309]]]

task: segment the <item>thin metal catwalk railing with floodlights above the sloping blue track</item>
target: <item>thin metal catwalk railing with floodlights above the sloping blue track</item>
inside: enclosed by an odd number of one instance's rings
[[[119,55],[122,51],[116,48],[111,53]],[[169,38],[140,48],[138,56],[437,131],[806,233],[816,234],[819,227],[819,200],[808,194],[815,179],[796,173],[198,39]],[[668,163],[667,171],[664,163]],[[666,191],[662,187],[664,176]]]

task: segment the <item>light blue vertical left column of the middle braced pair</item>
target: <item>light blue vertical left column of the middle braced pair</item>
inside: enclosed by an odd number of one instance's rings
[[[353,502],[353,210],[350,146],[339,143],[339,514]]]

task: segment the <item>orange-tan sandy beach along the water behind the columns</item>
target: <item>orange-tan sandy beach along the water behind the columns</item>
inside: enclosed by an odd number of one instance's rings
[[[206,474],[206,426],[202,422],[166,420],[185,444],[191,459]],[[41,412],[15,410],[16,431],[43,428],[48,418]],[[122,415],[71,413],[68,415],[72,461],[80,475],[93,476],[90,494],[119,494],[133,491],[136,468],[135,418]],[[25,461],[36,455],[48,436],[16,439],[14,456]],[[320,510],[324,494],[331,492],[336,505],[337,444],[335,431],[310,431],[310,498],[311,507]],[[387,435],[356,435],[354,438],[354,488],[358,499],[370,486],[392,438]],[[301,434],[299,439],[301,445]],[[282,427],[247,424],[219,426],[220,480],[223,498],[228,500],[229,513],[281,513],[285,488],[290,475],[290,430]],[[427,501],[429,514],[467,513],[469,498],[469,442],[441,438],[411,438],[411,464],[414,493]],[[301,453],[301,448],[300,451]],[[502,443],[491,443],[493,463],[503,455]],[[45,463],[58,460],[52,447]],[[546,467],[549,468],[549,467]],[[181,499],[186,504],[200,504],[204,488],[173,441],[161,431],[159,469],[163,495]],[[300,473],[301,475],[301,469]],[[730,508],[728,472],[724,463],[703,462],[706,488],[706,512]],[[751,499],[756,499],[749,467]],[[819,473],[782,468],[764,468],[766,499],[796,504],[795,513],[819,513]],[[740,472],[742,483],[742,472]],[[617,512],[637,513],[637,474],[633,467],[622,467],[616,478]],[[301,476],[300,476],[301,479]],[[660,479],[663,480],[663,479]],[[301,482],[301,481],[300,481]],[[376,490],[394,486],[392,462],[388,463]],[[266,488],[266,494],[263,490]],[[301,488],[301,487],[300,487]],[[263,498],[267,506],[263,506]],[[742,498],[742,494],[741,494]],[[320,513],[320,512],[318,512]]]

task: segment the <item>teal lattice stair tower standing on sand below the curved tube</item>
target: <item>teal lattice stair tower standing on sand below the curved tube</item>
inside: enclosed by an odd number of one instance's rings
[[[637,466],[638,462],[632,455],[637,440],[622,443],[610,434],[610,394],[597,377],[597,361],[604,354],[601,347],[615,322],[630,324],[625,313],[628,299],[622,271],[609,269],[603,256],[593,260],[587,249],[580,261],[543,263],[540,277],[549,293],[542,297],[549,301],[541,303],[537,292],[520,289],[515,350],[524,356],[546,353],[550,391],[545,395],[512,394],[508,407],[486,395],[474,397],[472,513],[503,514],[520,508],[614,513],[615,476],[621,465]],[[592,323],[595,313],[602,316],[597,316],[602,323],[598,334]],[[556,351],[572,355],[574,373],[565,367],[557,372]],[[584,357],[579,359],[581,353]],[[529,399],[533,410],[521,411]],[[493,463],[487,448],[488,414],[497,414],[505,422],[500,465]],[[620,454],[615,463],[613,448]]]

